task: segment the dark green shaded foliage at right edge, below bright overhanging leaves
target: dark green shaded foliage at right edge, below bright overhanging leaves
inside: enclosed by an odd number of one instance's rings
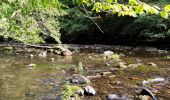
[[[137,35],[144,39],[164,39],[170,37],[170,19],[158,15],[139,16],[123,31],[126,35]]]

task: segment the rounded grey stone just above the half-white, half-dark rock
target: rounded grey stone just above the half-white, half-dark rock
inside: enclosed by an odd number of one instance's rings
[[[90,80],[83,75],[73,75],[71,82],[77,83],[77,84],[90,84],[91,83]]]

